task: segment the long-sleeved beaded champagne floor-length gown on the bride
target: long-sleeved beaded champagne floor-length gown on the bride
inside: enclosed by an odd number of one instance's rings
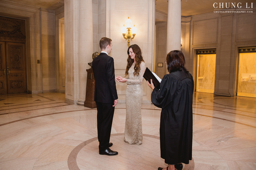
[[[129,144],[142,144],[141,102],[143,97],[143,75],[146,70],[141,62],[139,76],[134,76],[135,63],[130,67],[126,88],[126,119],[124,141]]]

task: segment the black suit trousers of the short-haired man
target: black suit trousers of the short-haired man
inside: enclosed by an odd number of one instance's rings
[[[100,103],[96,101],[97,106],[97,128],[98,128],[98,141],[100,142],[99,150],[103,151],[108,149],[110,140],[111,127],[113,122],[114,102]]]

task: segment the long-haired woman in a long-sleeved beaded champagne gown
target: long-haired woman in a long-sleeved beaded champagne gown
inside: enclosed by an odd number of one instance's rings
[[[120,82],[126,82],[126,119],[124,141],[129,144],[142,144],[141,102],[143,98],[143,75],[146,65],[137,44],[129,46],[125,76],[118,76]]]

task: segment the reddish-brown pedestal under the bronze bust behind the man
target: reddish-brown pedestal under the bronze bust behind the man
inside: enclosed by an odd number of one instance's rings
[[[92,69],[87,69],[87,84],[86,84],[86,96],[84,101],[84,107],[96,108],[96,103],[94,101],[94,88],[95,88],[95,79],[92,72]]]

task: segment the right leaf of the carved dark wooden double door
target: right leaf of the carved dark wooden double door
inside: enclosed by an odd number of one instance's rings
[[[8,93],[26,92],[25,44],[6,42],[5,48]]]

